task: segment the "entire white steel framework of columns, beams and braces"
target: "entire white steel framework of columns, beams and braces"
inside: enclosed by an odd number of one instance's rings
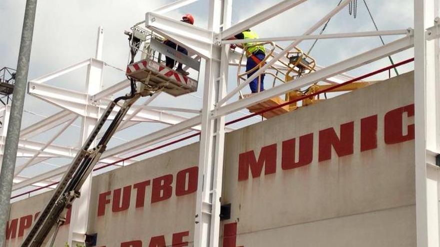
[[[174,3],[167,4],[146,13],[144,22],[147,28],[160,33],[178,44],[188,47],[190,52],[206,61],[203,108],[182,110],[177,107],[133,107],[133,110],[127,113],[128,117],[122,122],[122,127],[119,128],[119,130],[129,128],[139,122],[148,121],[160,122],[170,126],[154,133],[141,136],[123,145],[108,149],[101,156],[99,162],[108,163],[117,160],[120,156],[130,151],[145,148],[182,134],[200,131],[200,172],[198,178],[199,190],[197,191],[196,214],[194,216],[194,246],[218,247],[224,132],[231,130],[225,129],[224,117],[227,114],[253,105],[256,102],[310,85],[316,81],[326,81],[332,84],[348,81],[352,79],[352,77],[344,74],[345,72],[414,47],[416,107],[414,179],[416,182],[417,246],[438,246],[439,218],[437,184],[430,178],[434,171],[438,170],[438,167],[435,166],[435,157],[440,153],[440,103],[438,101],[440,96],[440,54],[438,41],[440,37],[440,19],[435,18],[438,15],[438,0],[414,0],[414,29],[321,35],[312,34],[351,1],[343,0],[337,7],[330,9],[318,22],[311,25],[302,35],[267,37],[252,40],[253,42],[276,40],[290,40],[292,42],[244,83],[232,89],[226,88],[227,71],[228,66],[237,64],[237,58],[236,54],[228,52],[228,44],[238,41],[227,40],[227,38],[244,29],[262,23],[306,0],[283,0],[234,25],[231,25],[232,0],[209,0],[208,29],[189,26],[165,16],[166,12],[195,1],[197,0],[177,0]],[[101,105],[105,105],[112,94],[128,87],[128,81],[123,80],[107,89],[101,90],[102,69],[106,66],[106,63],[100,59],[100,54],[102,53],[102,33],[102,29],[99,29],[97,52],[94,58],[81,61],[29,82],[29,93],[31,95],[62,108],[62,111],[22,130],[19,155],[34,159],[33,161],[26,162],[24,167],[37,164],[37,161],[49,157],[71,157],[74,155],[76,149],[68,149],[51,144],[52,139],[54,140],[56,135],[45,144],[29,144],[30,141],[27,139],[42,131],[71,123],[77,117],[83,119],[83,136],[87,136],[86,133],[89,132],[96,123],[98,115],[102,111]],[[188,35],[189,33],[191,35]],[[303,40],[379,35],[403,35],[403,37],[325,68],[320,67],[316,72],[303,76],[294,82],[284,83],[239,101],[230,101],[232,97],[238,94],[241,88],[245,87],[253,78],[256,78],[259,74],[264,72],[265,69],[269,68],[269,66],[276,66],[279,58]],[[49,79],[56,78],[62,74],[85,66],[88,68],[88,88],[86,92],[65,90],[43,84],[43,82]],[[191,118],[184,118],[165,113],[163,112],[164,110],[190,112],[197,115]],[[4,108],[4,111],[7,111],[7,107]],[[6,115],[7,114],[4,114],[4,116]],[[59,133],[62,133],[62,131]],[[5,133],[3,133],[0,140],[3,139],[4,134]],[[129,162],[134,162],[134,160]],[[24,169],[24,167],[20,167],[19,169]],[[13,190],[37,183],[50,184],[53,182],[50,179],[59,177],[65,172],[65,169],[66,167],[60,167],[45,174],[27,179],[18,177],[17,173],[16,181],[19,182],[13,186]],[[83,190],[89,190],[89,183]],[[88,198],[84,200],[87,201]],[[76,216],[78,216],[78,214],[76,214]],[[71,228],[75,230],[70,234],[69,243],[75,240],[75,235],[79,236],[79,234],[84,233],[81,231],[84,231],[86,220],[86,218],[77,219],[77,221],[71,224]]]

